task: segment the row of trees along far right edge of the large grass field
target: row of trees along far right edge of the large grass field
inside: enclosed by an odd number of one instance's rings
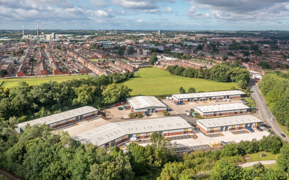
[[[239,81],[241,81],[244,86],[247,86],[247,81],[250,77],[250,73],[247,69],[240,67],[231,68],[224,64],[216,64],[210,69],[195,69],[191,67],[185,68],[181,66],[179,67],[178,65],[169,65],[166,67],[166,70],[176,76],[207,79],[216,82],[239,83]]]

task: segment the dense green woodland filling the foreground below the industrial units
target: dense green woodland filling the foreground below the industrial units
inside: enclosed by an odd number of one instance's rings
[[[52,133],[46,125],[27,125],[20,135],[13,133],[19,119],[0,122],[0,167],[23,179],[32,170],[33,179],[43,180],[190,180],[200,172],[212,170],[208,179],[286,179],[289,168],[289,146],[276,135],[257,141],[241,141],[220,150],[176,154],[176,144],[160,133],[153,133],[145,147],[130,143],[124,153],[119,146],[98,148],[91,143],[79,144],[66,131]],[[236,163],[245,162],[242,155],[267,151],[280,153],[278,171],[264,170],[256,165],[245,170]],[[6,158],[6,159],[4,159]],[[13,163],[12,163],[13,162]],[[23,169],[14,163],[28,169]],[[261,169],[255,171],[255,169]],[[233,178],[234,177],[234,178]]]

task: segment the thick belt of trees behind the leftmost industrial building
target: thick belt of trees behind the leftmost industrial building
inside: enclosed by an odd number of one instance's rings
[[[104,107],[105,102],[109,105],[124,101],[132,90],[120,82],[131,77],[133,72],[113,73],[31,86],[20,81],[10,89],[0,88],[0,118],[8,120],[15,116],[25,121],[82,106],[100,108]]]

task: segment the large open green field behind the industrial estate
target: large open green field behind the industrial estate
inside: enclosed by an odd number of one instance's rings
[[[185,91],[194,87],[196,91],[218,91],[237,87],[235,82],[214,82],[205,79],[196,79],[182,76],[174,76],[169,72],[156,67],[142,68],[136,72],[136,76],[123,82],[133,89],[131,95],[163,95],[178,94],[179,88]]]

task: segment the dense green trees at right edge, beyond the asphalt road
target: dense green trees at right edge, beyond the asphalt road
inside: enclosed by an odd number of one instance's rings
[[[289,119],[289,73],[266,73],[258,88],[265,97],[270,111],[281,125]]]

